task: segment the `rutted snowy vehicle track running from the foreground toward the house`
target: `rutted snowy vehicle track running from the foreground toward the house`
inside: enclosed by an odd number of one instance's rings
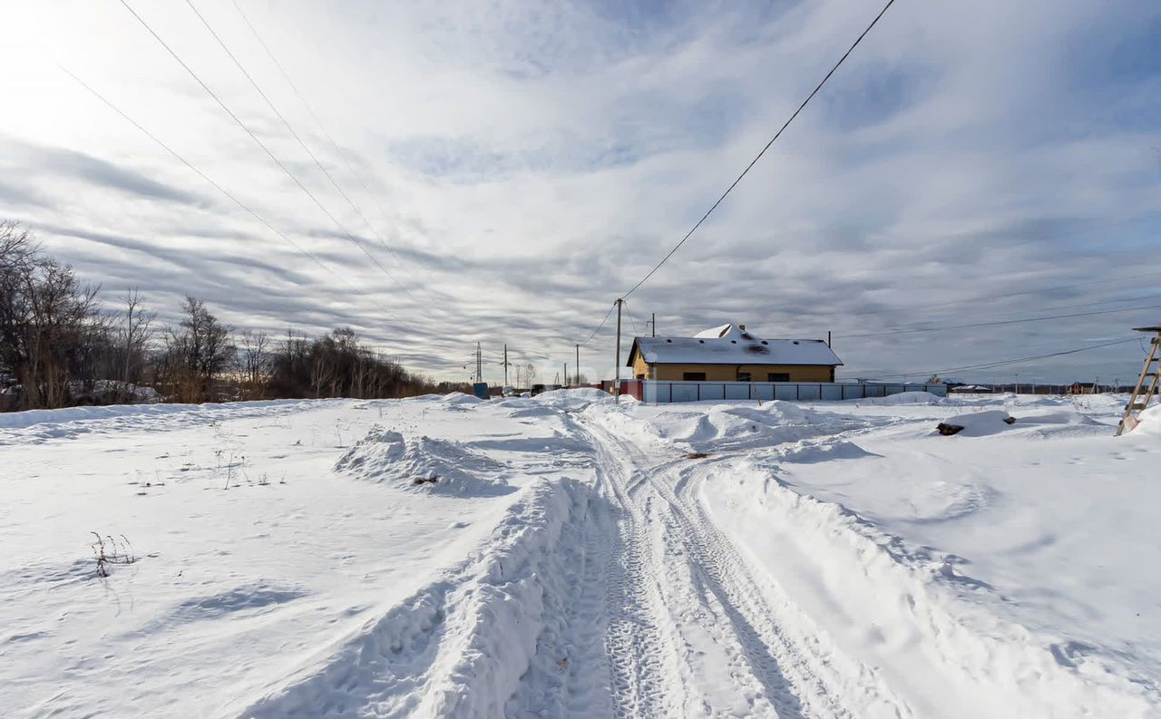
[[[608,579],[615,716],[908,716],[870,670],[851,671],[779,623],[770,602],[777,588],[755,579],[698,501],[697,459],[659,441],[622,438],[640,431],[614,433],[600,421],[585,429],[597,491],[620,513]],[[861,697],[858,711],[844,705],[849,696]]]

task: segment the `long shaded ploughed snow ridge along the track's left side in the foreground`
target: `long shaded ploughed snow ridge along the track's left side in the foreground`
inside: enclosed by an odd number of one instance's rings
[[[365,625],[241,716],[485,719],[538,660],[538,638],[567,603],[562,533],[583,522],[572,480],[528,487],[483,547],[444,579]]]

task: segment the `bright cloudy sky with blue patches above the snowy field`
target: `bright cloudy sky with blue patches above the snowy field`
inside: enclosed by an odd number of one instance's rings
[[[238,328],[347,325],[449,378],[478,340],[493,379],[505,342],[571,366],[881,8],[127,1],[257,140],[120,0],[6,2],[0,217],[165,319],[193,295]],[[899,0],[629,296],[626,335],[650,313],[831,331],[848,377],[1131,337],[1161,324],[1159,118],[1154,0]],[[611,320],[582,348],[590,377],[612,342]],[[951,375],[1140,362],[1133,341]]]

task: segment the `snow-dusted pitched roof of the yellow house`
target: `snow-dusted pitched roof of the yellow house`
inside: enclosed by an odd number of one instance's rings
[[[722,325],[692,337],[634,337],[628,364],[636,354],[649,364],[810,364],[843,363],[823,340],[764,340],[745,325]]]

